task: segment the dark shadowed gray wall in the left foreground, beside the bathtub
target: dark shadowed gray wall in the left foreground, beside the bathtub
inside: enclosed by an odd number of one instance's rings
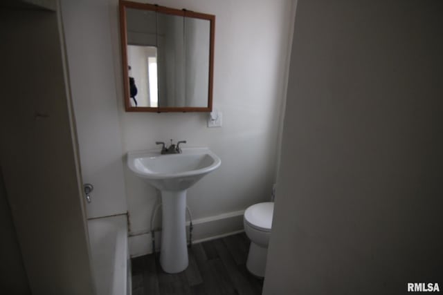
[[[32,294],[95,294],[59,16],[0,10],[0,162]]]

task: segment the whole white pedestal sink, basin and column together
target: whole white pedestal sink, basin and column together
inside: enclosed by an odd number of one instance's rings
[[[188,267],[186,191],[220,163],[208,148],[182,149],[172,155],[161,155],[159,150],[127,154],[129,169],[161,191],[160,264],[165,272],[174,274]]]

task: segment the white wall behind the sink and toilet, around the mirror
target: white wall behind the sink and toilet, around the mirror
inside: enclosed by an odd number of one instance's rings
[[[188,191],[195,219],[269,200],[275,182],[291,1],[158,3],[216,16],[214,104],[224,122],[221,128],[208,129],[206,113],[126,113],[121,103],[123,150],[155,149],[157,140],[173,138],[187,140],[184,146],[209,146],[219,155],[220,168]],[[126,166],[125,180],[131,231],[147,231],[156,192]],[[236,229],[242,229],[241,218],[230,228]]]

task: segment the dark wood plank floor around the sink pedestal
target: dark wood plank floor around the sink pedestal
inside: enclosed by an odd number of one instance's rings
[[[166,274],[159,253],[132,259],[132,294],[262,294],[263,280],[246,269],[249,240],[244,233],[188,248],[189,266]]]

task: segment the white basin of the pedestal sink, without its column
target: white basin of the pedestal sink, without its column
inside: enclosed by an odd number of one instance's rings
[[[188,189],[220,163],[220,158],[208,148],[182,149],[172,155],[161,155],[160,150],[127,154],[129,169],[161,191]]]

